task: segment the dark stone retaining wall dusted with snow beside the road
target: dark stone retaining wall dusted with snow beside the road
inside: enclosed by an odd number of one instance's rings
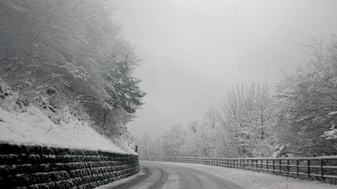
[[[0,188],[95,188],[139,170],[137,155],[0,143]]]

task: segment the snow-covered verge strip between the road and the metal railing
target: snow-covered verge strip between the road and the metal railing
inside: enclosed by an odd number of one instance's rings
[[[206,171],[227,181],[236,183],[247,189],[336,189],[336,185],[319,183],[318,181],[304,181],[297,178],[277,176],[274,174],[246,171],[242,169],[230,169],[226,167],[213,167],[204,164],[172,163],[183,167],[190,167],[200,171]]]

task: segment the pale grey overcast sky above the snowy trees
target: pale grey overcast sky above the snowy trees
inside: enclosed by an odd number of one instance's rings
[[[305,62],[308,35],[337,34],[335,0],[116,0],[114,18],[143,59],[147,92],[128,124],[159,136],[201,120],[236,81],[274,83]]]

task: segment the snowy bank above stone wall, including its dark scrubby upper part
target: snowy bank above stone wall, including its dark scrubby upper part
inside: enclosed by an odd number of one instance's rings
[[[12,89],[0,78],[0,142],[135,154],[129,138],[121,138],[127,130],[107,138],[83,110],[66,102],[55,108],[54,93],[48,86],[35,91]]]

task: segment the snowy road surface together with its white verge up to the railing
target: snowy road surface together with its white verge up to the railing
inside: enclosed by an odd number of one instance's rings
[[[242,169],[205,164],[140,162],[140,173],[96,189],[126,188],[246,188],[246,189],[336,189],[336,185],[303,181]]]

